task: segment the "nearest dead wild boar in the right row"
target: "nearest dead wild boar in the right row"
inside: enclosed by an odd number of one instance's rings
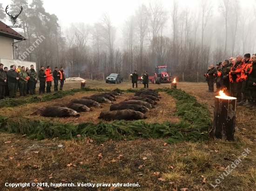
[[[108,110],[101,111],[101,114],[98,117],[98,119],[104,119],[106,121],[141,120],[141,119],[147,119],[147,117],[139,111],[124,109],[124,110],[115,110],[115,111],[108,111]]]

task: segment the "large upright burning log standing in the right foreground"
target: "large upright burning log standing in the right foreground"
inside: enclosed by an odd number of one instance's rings
[[[215,96],[212,133],[218,139],[234,140],[236,97]]]

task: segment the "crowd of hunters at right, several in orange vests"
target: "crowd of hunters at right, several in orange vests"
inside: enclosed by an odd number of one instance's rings
[[[223,90],[227,96],[237,98],[237,105],[256,109],[256,54],[252,57],[249,53],[244,57],[230,57],[217,64],[216,68],[212,64],[204,76],[208,82],[208,92],[214,92],[216,83],[217,94]]]

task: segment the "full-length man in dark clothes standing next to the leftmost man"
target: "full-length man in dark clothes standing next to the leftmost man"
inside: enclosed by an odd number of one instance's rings
[[[7,71],[7,76],[9,96],[10,98],[14,98],[17,93],[18,80],[20,79],[18,73],[15,71],[14,65],[10,66],[10,70]]]

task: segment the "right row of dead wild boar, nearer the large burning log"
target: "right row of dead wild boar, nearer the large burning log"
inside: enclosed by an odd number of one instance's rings
[[[109,111],[101,111],[99,119],[112,120],[140,120],[147,119],[144,115],[149,109],[155,108],[161,98],[153,89],[146,89],[136,92],[132,98],[112,104]]]

